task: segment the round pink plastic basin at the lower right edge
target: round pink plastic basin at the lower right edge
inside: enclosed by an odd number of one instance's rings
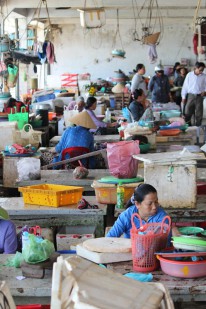
[[[194,252],[195,255],[195,252]],[[170,276],[180,278],[199,278],[206,276],[206,260],[197,262],[174,261],[157,256],[162,271]]]

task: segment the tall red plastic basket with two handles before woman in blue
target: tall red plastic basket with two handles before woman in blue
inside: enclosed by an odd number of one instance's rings
[[[135,217],[140,221],[139,229],[135,226]],[[165,223],[165,220],[168,220],[169,224]],[[162,222],[143,225],[139,214],[132,215],[131,242],[134,271],[149,272],[159,267],[159,261],[154,253],[166,248],[170,226],[169,216],[164,217]]]

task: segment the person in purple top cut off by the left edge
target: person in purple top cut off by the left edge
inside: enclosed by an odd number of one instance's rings
[[[0,253],[16,253],[17,235],[13,222],[5,209],[0,207]]]

